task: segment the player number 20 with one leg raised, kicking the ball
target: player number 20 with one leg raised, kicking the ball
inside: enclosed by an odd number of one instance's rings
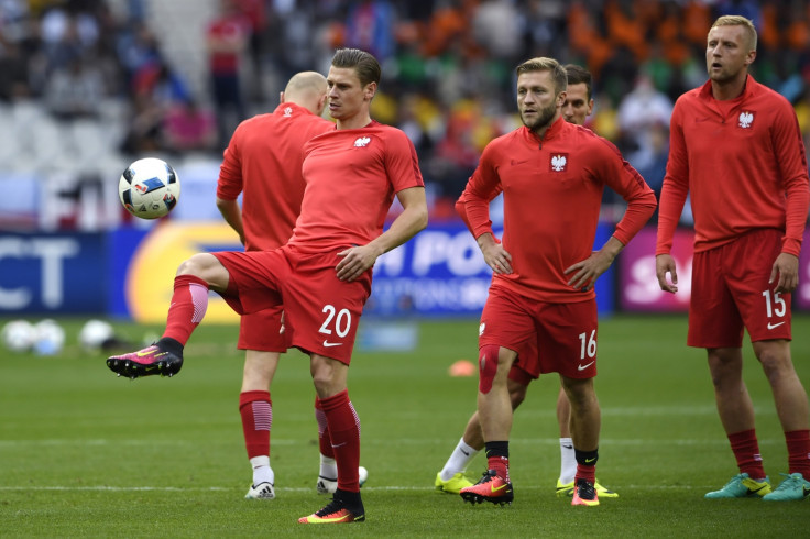
[[[357,48],[335,53],[327,76],[336,129],[304,145],[306,190],[286,245],[271,251],[195,254],[177,271],[163,338],[139,352],[112,356],[113,372],[136,377],[176,374],[183,346],[202,320],[208,290],[240,315],[284,307],[289,342],[310,356],[310,372],[335,451],[338,486],[302,524],[363,521],[360,420],[347,381],[376,258],[427,226],[416,151],[398,129],[373,121],[380,82],[376,58]],[[402,212],[383,232],[394,196]]]

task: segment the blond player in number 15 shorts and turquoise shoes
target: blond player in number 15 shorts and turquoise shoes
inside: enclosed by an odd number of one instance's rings
[[[678,290],[669,252],[691,194],[687,344],[707,350],[720,421],[740,469],[705,497],[802,499],[810,494],[810,413],[790,359],[790,293],[810,206],[807,157],[790,103],[748,74],[756,41],[749,20],[719,18],[707,40],[709,80],[675,105],[656,274],[663,290]],[[789,475],[773,492],[743,381],[743,329],[770,383],[787,441]]]

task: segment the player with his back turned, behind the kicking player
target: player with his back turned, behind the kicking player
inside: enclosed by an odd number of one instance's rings
[[[305,187],[302,148],[313,136],[335,129],[332,122],[320,117],[326,107],[326,77],[321,74],[294,75],[281,92],[281,105],[273,113],[242,122],[225,151],[217,207],[248,251],[280,248],[293,234]],[[241,208],[237,201],[240,194],[243,195]],[[245,355],[239,411],[253,469],[253,483],[245,495],[250,499],[275,497],[275,474],[270,465],[273,422],[270,386],[280,355],[287,350],[287,338],[281,306],[241,317],[237,345]],[[315,415],[320,447],[316,490],[321,494],[333,493],[338,472],[317,399]],[[365,469],[361,468],[360,475],[362,484]]]

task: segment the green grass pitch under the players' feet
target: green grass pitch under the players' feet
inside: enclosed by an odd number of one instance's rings
[[[0,323],[4,322],[0,320]],[[475,406],[478,321],[420,322],[413,352],[357,352],[349,391],[362,424],[364,524],[302,526],[320,508],[308,361],[292,352],[273,385],[276,499],[243,499],[251,471],[238,414],[237,328],[205,323],[174,378],[117,378],[76,344],[55,358],[0,355],[0,537],[808,537],[810,502],[707,501],[736,473],[714,408],[704,352],[683,317],[602,320],[598,476],[620,493],[595,508],[555,496],[556,376],[533,384],[511,440],[515,502],[470,506],[433,482]],[[142,339],[158,328],[119,324]],[[793,320],[793,361],[810,387],[810,317]],[[787,453],[770,389],[745,343],[745,377],[766,472]],[[478,477],[479,455],[468,471]]]

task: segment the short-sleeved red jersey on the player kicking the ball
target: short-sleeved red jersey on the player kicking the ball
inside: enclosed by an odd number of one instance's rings
[[[307,186],[289,244],[304,252],[365,245],[382,234],[394,194],[425,185],[407,135],[376,121],[309,141],[303,172]]]

